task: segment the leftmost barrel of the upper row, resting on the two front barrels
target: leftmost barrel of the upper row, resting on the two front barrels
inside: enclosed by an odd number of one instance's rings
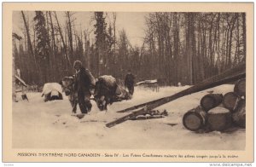
[[[222,99],[222,94],[208,94],[201,98],[200,104],[202,109],[207,112],[214,107],[218,107]]]

